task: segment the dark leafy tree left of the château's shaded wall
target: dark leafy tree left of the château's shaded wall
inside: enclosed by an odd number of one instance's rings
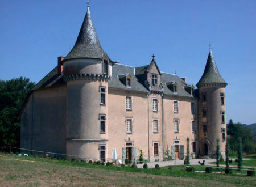
[[[0,146],[20,146],[19,112],[34,86],[28,78],[0,80]]]

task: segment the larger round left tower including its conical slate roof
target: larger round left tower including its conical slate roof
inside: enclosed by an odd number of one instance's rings
[[[103,150],[108,141],[107,91],[112,65],[98,41],[88,5],[76,44],[63,60],[68,155],[92,160],[104,160],[108,156]]]

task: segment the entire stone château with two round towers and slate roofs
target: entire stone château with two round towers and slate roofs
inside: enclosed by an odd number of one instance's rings
[[[101,48],[89,7],[71,52],[31,91],[23,106],[21,148],[81,159],[183,159],[225,153],[225,87],[212,51],[196,84],[149,65],[113,62]]]

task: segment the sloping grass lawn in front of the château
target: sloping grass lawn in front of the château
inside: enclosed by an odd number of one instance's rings
[[[254,186],[255,182],[256,177],[245,175],[185,172],[183,165],[171,170],[106,167],[0,152],[1,186]]]

